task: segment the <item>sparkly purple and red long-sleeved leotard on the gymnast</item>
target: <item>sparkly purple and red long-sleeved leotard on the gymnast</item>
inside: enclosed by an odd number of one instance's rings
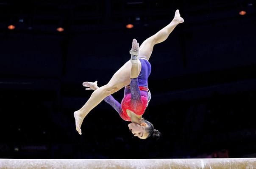
[[[131,79],[130,85],[125,87],[125,95],[121,104],[116,101],[112,95],[107,96],[104,100],[110,104],[122,117],[123,120],[131,121],[126,110],[131,110],[137,115],[142,115],[148,104],[148,85],[147,78],[151,72],[150,63],[139,58],[141,62],[141,71],[137,78]]]

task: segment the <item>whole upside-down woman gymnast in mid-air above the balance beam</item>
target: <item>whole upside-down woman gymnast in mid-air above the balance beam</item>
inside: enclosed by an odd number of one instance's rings
[[[153,46],[165,41],[174,28],[182,22],[184,19],[181,18],[179,10],[176,10],[174,19],[170,24],[147,38],[141,46],[134,39],[130,51],[131,59],[112,76],[108,84],[98,87],[97,81],[94,83],[83,82],[84,87],[89,87],[86,90],[95,91],[86,104],[74,112],[75,126],[79,134],[82,134],[83,119],[104,99],[120,114],[123,120],[131,121],[128,127],[134,136],[140,139],[146,139],[151,135],[157,138],[160,136],[160,132],[154,129],[150,122],[142,118],[150,99],[147,78],[151,72],[151,65],[148,60],[153,52]],[[125,87],[125,96],[122,99],[122,104],[120,104],[111,94],[123,87]]]

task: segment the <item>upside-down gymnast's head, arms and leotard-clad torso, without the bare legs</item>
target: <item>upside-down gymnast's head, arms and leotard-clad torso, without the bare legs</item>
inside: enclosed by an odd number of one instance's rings
[[[151,65],[145,58],[138,58],[139,43],[133,40],[131,54],[131,83],[125,86],[125,95],[122,104],[116,101],[112,95],[107,96],[104,100],[110,104],[120,115],[123,120],[131,121],[128,125],[134,136],[140,139],[146,139],[148,136],[159,136],[160,133],[154,129],[153,125],[142,118],[142,114],[150,100],[150,93],[147,85],[147,78],[151,72]],[[138,63],[140,62],[141,70],[139,72]],[[83,82],[86,90],[97,90],[97,81]]]

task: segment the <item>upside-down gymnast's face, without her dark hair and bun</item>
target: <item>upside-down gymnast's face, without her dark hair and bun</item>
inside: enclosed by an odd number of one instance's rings
[[[146,123],[130,123],[128,124],[128,127],[134,136],[139,137],[140,139],[147,139],[148,133],[145,130],[147,127]]]

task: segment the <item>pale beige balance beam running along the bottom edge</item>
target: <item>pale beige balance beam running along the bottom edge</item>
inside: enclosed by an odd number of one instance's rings
[[[256,169],[256,158],[0,159],[0,169]]]

